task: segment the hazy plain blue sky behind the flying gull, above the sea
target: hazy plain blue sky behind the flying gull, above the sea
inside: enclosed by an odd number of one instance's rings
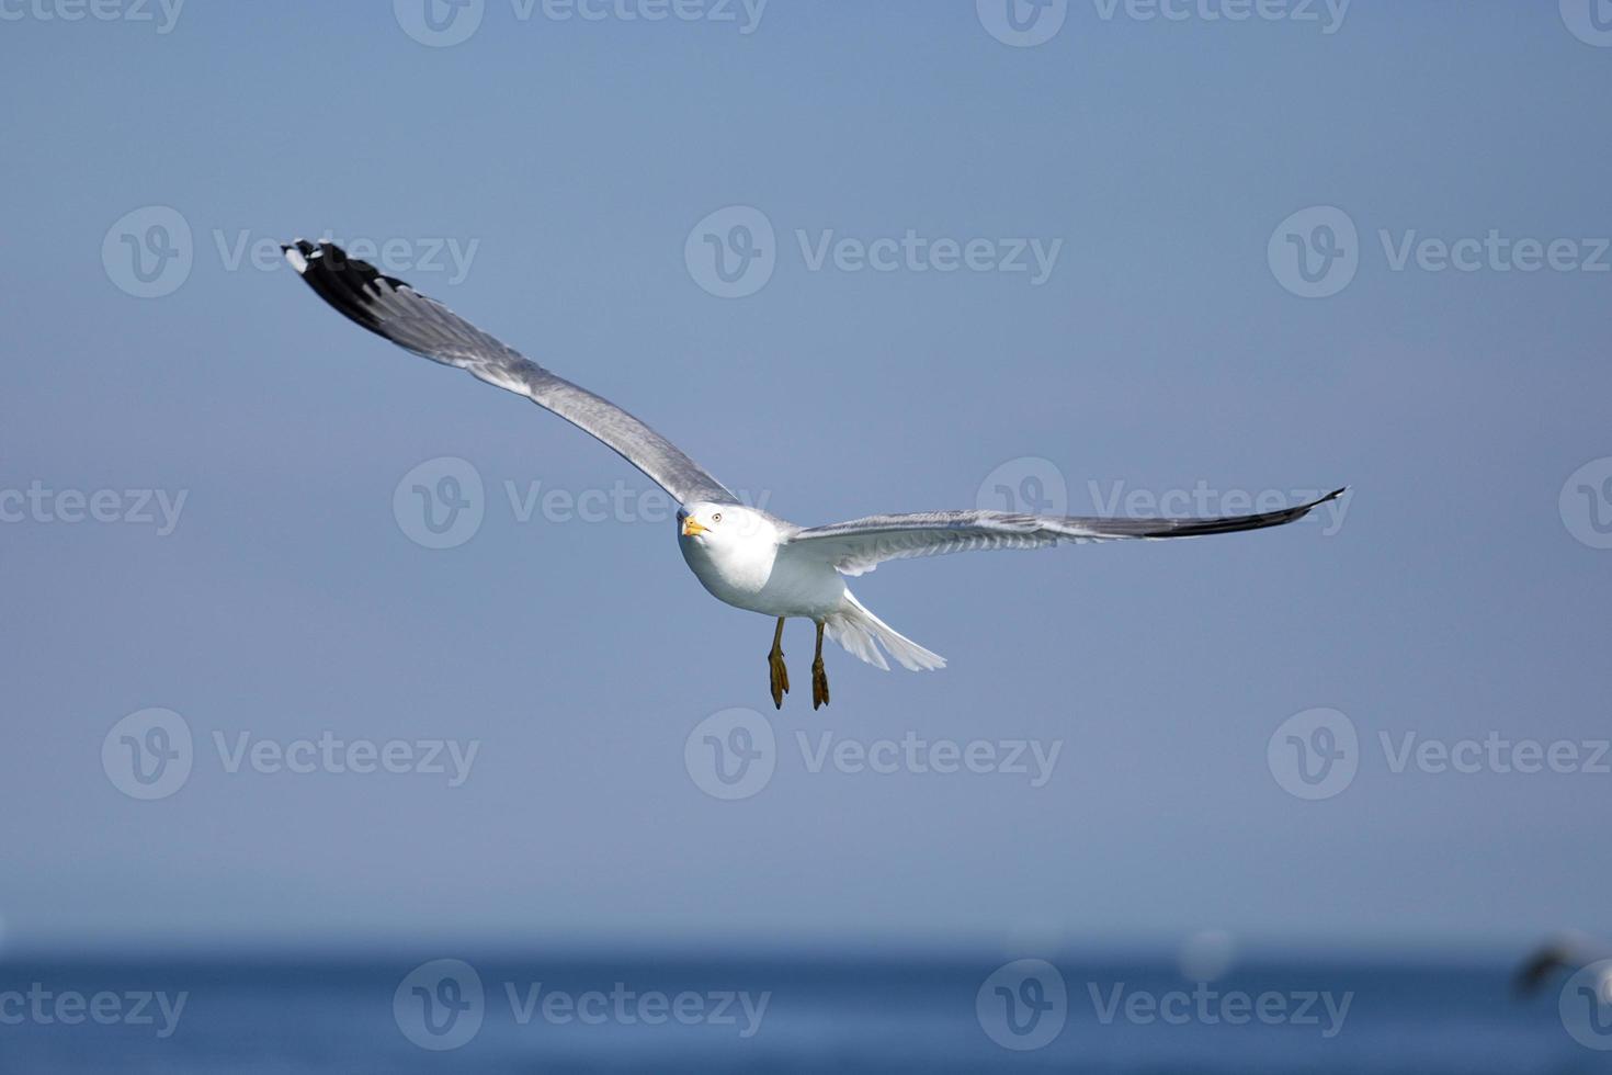
[[[1607,925],[1588,8],[1070,2],[1040,44],[988,2],[487,0],[458,44],[416,8],[0,5],[6,943]],[[704,235],[758,219],[771,276],[713,293]],[[324,234],[803,524],[998,485],[1074,514],[1352,493],[1262,533],[888,564],[858,595],[949,667],[832,651],[812,712],[791,624],[774,712],[771,624],[704,595],[646,479],[255,259]],[[400,485],[440,459],[480,522],[434,550]],[[579,517],[601,496],[632,508]],[[192,767],[140,799],[113,728],[148,708]],[[774,772],[724,801],[685,748],[733,708]],[[1277,733],[1314,709],[1354,775],[1306,799]],[[824,733],[1059,746],[1035,787],[814,772]],[[321,737],[405,741],[408,772],[272,770]],[[1512,746],[1438,769],[1485,740]],[[1519,772],[1522,740],[1577,761]],[[458,787],[416,770],[472,741]]]

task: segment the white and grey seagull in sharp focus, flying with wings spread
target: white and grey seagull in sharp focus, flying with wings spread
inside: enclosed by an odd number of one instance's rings
[[[783,622],[817,625],[812,709],[829,704],[824,635],[853,656],[888,670],[945,667],[945,658],[895,632],[856,600],[848,577],[890,559],[970,550],[1041,548],[1116,538],[1183,538],[1259,530],[1302,519],[1344,490],[1320,500],[1251,516],[1217,519],[1083,519],[1011,511],[925,511],[801,527],[740,503],[725,485],[672,442],[609,400],[571,384],[482,332],[442,303],[421,295],[340,247],[295,240],[282,247],[298,276],[348,319],[398,347],[524,395],[604,442],[680,504],[677,546],[688,569],[719,601],[777,621],[767,675],[772,704],[783,708],[790,674],[783,662]]]

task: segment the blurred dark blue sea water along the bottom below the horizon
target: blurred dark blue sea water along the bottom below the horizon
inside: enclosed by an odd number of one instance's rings
[[[1519,999],[1498,962],[1194,983],[1069,956],[31,961],[0,964],[0,1070],[1612,1072],[1560,985]]]

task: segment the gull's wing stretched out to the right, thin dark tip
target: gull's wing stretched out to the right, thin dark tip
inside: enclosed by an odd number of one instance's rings
[[[906,516],[869,516],[827,527],[808,527],[788,538],[796,554],[821,558],[841,574],[861,575],[887,559],[943,556],[987,548],[1041,548],[1062,542],[1111,542],[1117,538],[1203,537],[1280,527],[1302,519],[1344,490],[1320,500],[1257,516],[1219,519],[1082,519],[1075,516],[1024,516],[1006,511],[924,511]]]

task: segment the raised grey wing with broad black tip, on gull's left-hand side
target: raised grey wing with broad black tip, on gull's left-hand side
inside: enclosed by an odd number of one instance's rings
[[[517,392],[614,448],[680,503],[737,503],[733,493],[658,432],[587,388],[556,377],[403,280],[348,258],[334,243],[298,239],[285,259],[319,298],[376,335],[490,385]]]

